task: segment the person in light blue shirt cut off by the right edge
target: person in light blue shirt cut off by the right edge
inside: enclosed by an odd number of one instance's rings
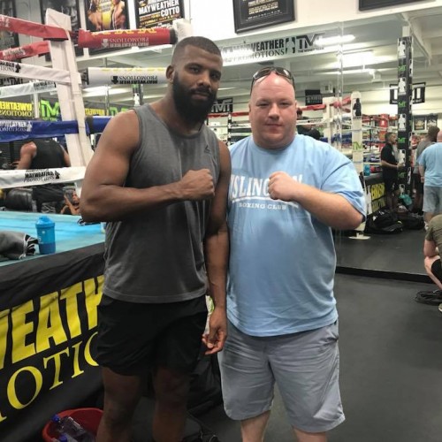
[[[423,182],[423,220],[425,226],[438,213],[442,213],[442,131],[436,143],[423,150],[417,157]]]

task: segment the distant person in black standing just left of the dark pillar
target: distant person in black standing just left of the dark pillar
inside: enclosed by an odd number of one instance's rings
[[[393,145],[396,144],[396,134],[385,133],[385,146],[381,150],[382,177],[385,183],[385,200],[388,210],[395,211],[398,207],[400,164],[396,159]]]

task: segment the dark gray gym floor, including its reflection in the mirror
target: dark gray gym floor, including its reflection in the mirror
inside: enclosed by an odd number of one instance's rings
[[[442,440],[442,314],[414,300],[416,292],[436,288],[423,269],[424,234],[404,231],[370,240],[336,235],[347,419],[330,431],[329,442]],[[200,419],[221,442],[240,442],[240,425],[222,406]],[[278,392],[265,442],[293,442]]]

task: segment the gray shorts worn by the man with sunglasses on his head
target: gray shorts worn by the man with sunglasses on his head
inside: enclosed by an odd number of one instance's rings
[[[283,336],[254,337],[228,324],[218,354],[225,413],[244,420],[271,409],[278,385],[289,422],[305,432],[345,420],[339,393],[338,324]]]

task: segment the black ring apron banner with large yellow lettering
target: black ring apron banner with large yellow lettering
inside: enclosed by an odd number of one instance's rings
[[[0,434],[40,440],[101,388],[93,357],[103,244],[0,267]]]

